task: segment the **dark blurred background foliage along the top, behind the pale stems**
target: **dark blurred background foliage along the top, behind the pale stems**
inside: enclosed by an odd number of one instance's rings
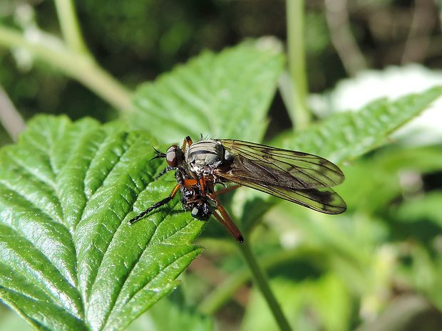
[[[428,26],[436,20],[437,12],[427,2],[418,1],[419,7],[429,6],[426,10],[433,13],[432,19],[426,20]],[[18,25],[24,3],[1,1],[0,23]],[[38,26],[59,36],[53,2],[27,3],[37,13]],[[271,35],[284,41],[286,36],[284,1],[137,0],[116,1],[112,5],[107,1],[76,1],[75,5],[81,30],[98,63],[130,88],[152,80],[206,48],[220,51],[244,38]],[[347,74],[330,38],[324,2],[307,1],[306,6],[309,90],[321,92]],[[413,1],[349,1],[347,10],[351,31],[369,68],[402,63],[408,32],[413,32]],[[425,29],[416,28],[416,38],[422,36],[416,42],[423,43],[416,48],[422,46],[426,53],[411,61],[442,67],[439,30],[436,23]],[[16,60],[4,48],[0,48],[0,63],[0,83],[26,118],[36,112],[66,113],[74,120],[84,115],[102,121],[115,117],[103,100],[48,65],[20,62],[17,68]],[[280,107],[275,103],[272,114],[282,113]],[[286,118],[274,118],[273,130],[287,127]]]

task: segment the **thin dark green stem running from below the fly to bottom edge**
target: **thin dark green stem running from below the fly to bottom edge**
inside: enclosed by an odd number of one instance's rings
[[[289,322],[287,322],[287,319],[281,310],[281,306],[279,303],[277,303],[276,298],[274,298],[272,290],[269,287],[269,282],[264,275],[264,271],[259,267],[249,243],[245,241],[244,243],[238,244],[238,246],[240,247],[240,251],[244,256],[247,265],[252,271],[252,275],[255,278],[255,282],[258,285],[259,290],[261,290],[264,299],[267,301],[267,305],[269,305],[269,308],[272,311],[274,319],[279,325],[279,330],[291,331],[292,328],[289,326]]]

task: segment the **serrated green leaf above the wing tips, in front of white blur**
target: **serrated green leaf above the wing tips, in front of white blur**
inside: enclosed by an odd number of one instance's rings
[[[355,159],[384,145],[391,132],[412,120],[441,95],[442,88],[436,87],[394,102],[385,98],[377,100],[358,112],[342,112],[328,117],[318,125],[288,137],[282,145],[287,149],[317,154],[332,162]]]

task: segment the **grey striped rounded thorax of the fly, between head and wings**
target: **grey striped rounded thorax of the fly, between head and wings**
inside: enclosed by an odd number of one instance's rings
[[[197,176],[212,174],[229,158],[230,153],[216,140],[195,142],[185,152],[185,162]]]

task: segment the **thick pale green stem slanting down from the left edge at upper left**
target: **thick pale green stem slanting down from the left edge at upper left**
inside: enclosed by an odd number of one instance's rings
[[[34,35],[34,38],[36,41],[29,41],[20,31],[0,25],[0,46],[23,48],[86,85],[116,109],[132,109],[130,91],[103,70],[87,53],[71,50],[62,41],[42,31],[38,36]]]

